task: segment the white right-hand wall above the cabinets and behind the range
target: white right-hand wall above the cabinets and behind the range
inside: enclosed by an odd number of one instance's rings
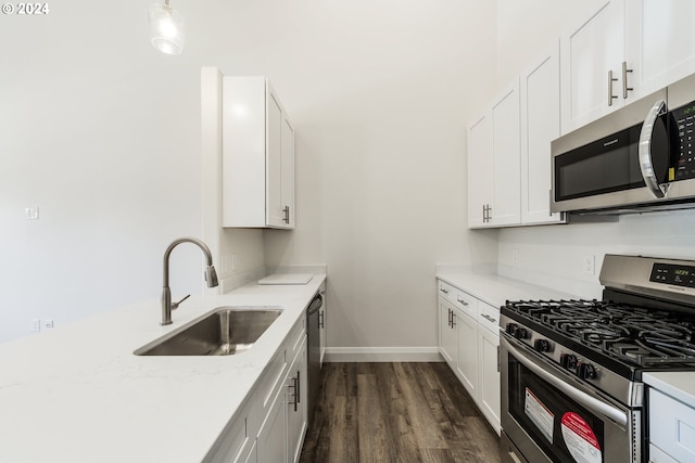
[[[539,51],[564,30],[587,17],[601,0],[498,0],[498,86],[518,74]],[[540,22],[540,23],[539,23]],[[695,258],[694,211],[622,216],[612,223],[571,223],[501,230],[498,262],[519,276],[532,275],[558,290],[599,297],[603,256],[643,254]],[[519,260],[514,261],[514,250]],[[584,260],[595,256],[595,272]]]

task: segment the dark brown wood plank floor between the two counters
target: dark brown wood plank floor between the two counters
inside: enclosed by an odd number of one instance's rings
[[[446,363],[326,363],[300,461],[500,462],[500,437]]]

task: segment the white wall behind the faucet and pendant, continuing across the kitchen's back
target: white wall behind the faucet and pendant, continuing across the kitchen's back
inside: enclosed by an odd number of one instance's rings
[[[268,76],[298,133],[298,229],[225,231],[217,253],[328,263],[331,344],[434,346],[434,265],[496,260],[495,232],[465,228],[463,156],[494,2],[175,0],[180,56],[149,44],[149,2],[50,7],[0,28],[0,340],[142,298],[156,322],[164,248],[210,223],[207,65]],[[174,253],[175,297],[202,291],[200,262]]]

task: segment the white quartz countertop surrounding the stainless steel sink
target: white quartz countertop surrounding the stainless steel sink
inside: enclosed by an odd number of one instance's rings
[[[168,326],[151,299],[0,344],[0,462],[203,460],[325,279],[192,296]],[[220,306],[285,310],[237,356],[132,353]]]

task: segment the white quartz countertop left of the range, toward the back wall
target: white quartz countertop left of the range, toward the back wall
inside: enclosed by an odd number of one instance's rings
[[[494,273],[466,270],[438,271],[437,278],[494,307],[502,307],[507,300],[578,298],[567,293]]]

